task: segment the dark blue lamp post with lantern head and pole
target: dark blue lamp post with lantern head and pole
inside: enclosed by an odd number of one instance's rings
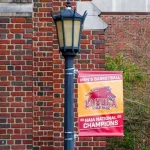
[[[83,16],[71,9],[70,0],[66,9],[53,20],[56,25],[59,51],[65,59],[65,99],[64,99],[64,150],[74,150],[74,65],[73,60],[80,51]]]

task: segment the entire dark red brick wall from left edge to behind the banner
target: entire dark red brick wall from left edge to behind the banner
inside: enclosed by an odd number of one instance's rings
[[[64,58],[58,51],[50,11],[58,12],[65,5],[61,0],[33,0],[32,17],[0,17],[2,150],[63,149]],[[83,31],[75,68],[103,70],[104,57],[104,31]],[[74,81],[77,134],[76,78]],[[103,150],[105,145],[105,138],[76,139],[76,150]]]

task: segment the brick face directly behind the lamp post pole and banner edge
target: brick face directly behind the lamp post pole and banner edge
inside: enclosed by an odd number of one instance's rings
[[[72,1],[75,8],[76,1]],[[53,11],[58,12],[65,7],[61,0],[53,2]],[[83,31],[81,37],[81,53],[75,58],[75,68],[78,70],[103,70],[105,65],[105,40],[104,31]],[[58,50],[56,30],[53,27],[53,147],[54,150],[63,149],[63,121],[64,121],[64,58]],[[77,76],[74,79],[75,96],[75,133],[78,132],[77,124]],[[103,150],[105,138],[76,138],[75,150]]]

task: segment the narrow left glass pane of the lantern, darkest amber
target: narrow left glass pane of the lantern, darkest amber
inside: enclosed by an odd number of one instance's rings
[[[57,24],[57,32],[58,32],[58,38],[59,38],[59,46],[63,47],[64,41],[63,41],[62,21],[57,21],[56,24]]]

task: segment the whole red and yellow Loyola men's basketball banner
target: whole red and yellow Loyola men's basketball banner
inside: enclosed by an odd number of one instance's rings
[[[122,72],[78,72],[79,136],[124,136]]]

